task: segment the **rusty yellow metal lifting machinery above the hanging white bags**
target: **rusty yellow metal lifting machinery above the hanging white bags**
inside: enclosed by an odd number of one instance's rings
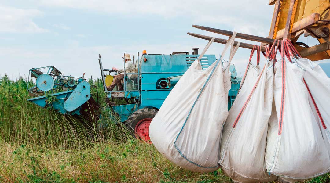
[[[290,39],[293,43],[305,33],[321,44],[313,48],[295,47],[313,61],[330,58],[330,2],[329,0],[269,0],[274,5],[268,38]]]

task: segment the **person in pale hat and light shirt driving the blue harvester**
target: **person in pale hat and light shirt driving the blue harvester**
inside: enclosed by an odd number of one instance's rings
[[[124,57],[122,57],[124,58]],[[114,80],[112,81],[110,86],[107,86],[107,90],[112,91],[115,86],[118,86],[118,91],[123,91],[123,85],[121,84],[121,80],[124,79],[124,69],[117,69],[116,67],[112,67],[113,70],[121,72],[120,74],[117,74],[114,76]],[[131,55],[126,53],[125,54],[125,72],[126,73],[135,73],[135,66],[131,60]],[[133,79],[134,74],[128,74],[128,79]]]

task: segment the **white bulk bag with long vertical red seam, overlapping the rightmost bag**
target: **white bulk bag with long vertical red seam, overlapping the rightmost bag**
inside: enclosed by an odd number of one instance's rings
[[[284,48],[281,50],[284,52]],[[313,178],[330,170],[328,150],[309,103],[304,75],[304,68],[285,61],[284,55],[275,64],[277,116],[270,119],[266,167],[268,172],[288,182]]]

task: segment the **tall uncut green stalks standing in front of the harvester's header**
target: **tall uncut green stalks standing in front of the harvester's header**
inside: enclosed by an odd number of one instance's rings
[[[0,80],[0,139],[8,142],[33,143],[56,148],[82,148],[105,139],[125,138],[125,130],[110,120],[111,113],[103,112],[104,121],[110,128],[98,130],[98,121],[85,121],[70,115],[46,110],[26,100],[27,83],[20,78]],[[100,93],[102,94],[102,93]],[[102,134],[100,134],[102,133]],[[121,133],[121,134],[120,134]],[[118,138],[120,136],[120,138]],[[103,139],[104,139],[103,138]]]

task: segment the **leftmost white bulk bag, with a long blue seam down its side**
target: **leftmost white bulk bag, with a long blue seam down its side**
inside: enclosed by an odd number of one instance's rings
[[[224,51],[234,38],[235,35]],[[202,70],[197,59],[151,121],[151,142],[167,159],[182,168],[199,172],[220,168],[220,139],[228,115],[228,91],[231,87],[228,68],[228,65],[222,68],[219,59]]]

